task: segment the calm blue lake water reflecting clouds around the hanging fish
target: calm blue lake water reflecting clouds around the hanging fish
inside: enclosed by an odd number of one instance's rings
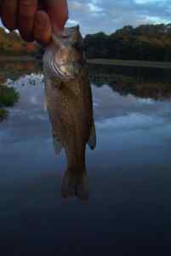
[[[171,238],[170,96],[141,97],[118,92],[116,82],[92,83],[97,147],[87,148],[89,200],[83,204],[60,195],[66,158],[54,154],[42,79],[22,72],[8,81],[20,101],[0,124],[2,250],[165,254]]]

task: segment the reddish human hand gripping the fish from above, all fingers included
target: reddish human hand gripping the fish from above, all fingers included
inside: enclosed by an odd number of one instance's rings
[[[52,30],[61,31],[68,20],[67,0],[0,0],[0,17],[26,42],[48,44]]]

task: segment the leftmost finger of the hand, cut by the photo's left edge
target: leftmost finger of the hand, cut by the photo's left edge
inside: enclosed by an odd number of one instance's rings
[[[17,0],[1,0],[1,19],[9,30],[16,29]]]

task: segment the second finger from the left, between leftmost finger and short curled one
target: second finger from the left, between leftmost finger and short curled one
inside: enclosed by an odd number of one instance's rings
[[[34,41],[33,27],[37,8],[37,0],[19,0],[18,28],[20,36],[27,42]]]

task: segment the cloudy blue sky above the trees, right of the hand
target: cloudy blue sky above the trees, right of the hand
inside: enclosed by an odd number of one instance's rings
[[[171,23],[171,0],[68,0],[68,26],[80,24],[83,35],[115,32],[146,23]]]

